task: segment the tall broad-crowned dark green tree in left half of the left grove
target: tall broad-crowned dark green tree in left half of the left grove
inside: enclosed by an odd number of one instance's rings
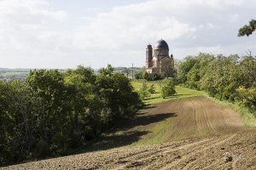
[[[27,85],[32,88],[38,100],[38,128],[40,129],[38,146],[45,146],[38,157],[45,153],[60,154],[67,150],[70,121],[68,121],[67,87],[64,83],[64,73],[58,70],[30,71],[26,78]],[[47,156],[47,155],[46,155]]]

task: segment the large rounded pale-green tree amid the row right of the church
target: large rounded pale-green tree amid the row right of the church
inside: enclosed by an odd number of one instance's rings
[[[200,80],[201,89],[217,99],[234,101],[236,88],[243,80],[241,73],[238,55],[225,57],[219,54],[207,65],[207,71]]]

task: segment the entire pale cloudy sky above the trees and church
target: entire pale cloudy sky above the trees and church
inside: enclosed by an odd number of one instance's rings
[[[256,55],[255,0],[0,0],[0,67],[143,66],[166,40],[176,59],[200,52]]]

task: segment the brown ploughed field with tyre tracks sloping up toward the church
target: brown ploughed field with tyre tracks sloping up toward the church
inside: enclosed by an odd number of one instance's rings
[[[203,97],[154,105],[118,130],[122,135],[103,138],[105,144],[129,147],[3,169],[256,169],[256,133],[234,111]],[[154,139],[165,143],[132,146]]]

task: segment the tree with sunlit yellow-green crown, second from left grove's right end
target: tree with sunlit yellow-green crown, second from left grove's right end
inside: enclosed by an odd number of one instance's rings
[[[101,132],[102,101],[96,95],[96,75],[92,69],[79,65],[75,70],[67,70],[64,81],[69,146],[76,148]]]

